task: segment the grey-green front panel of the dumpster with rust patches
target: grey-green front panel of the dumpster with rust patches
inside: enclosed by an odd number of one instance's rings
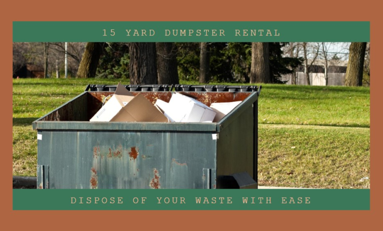
[[[38,165],[49,166],[50,188],[206,188],[204,171],[216,169],[217,140],[212,133],[38,134]]]

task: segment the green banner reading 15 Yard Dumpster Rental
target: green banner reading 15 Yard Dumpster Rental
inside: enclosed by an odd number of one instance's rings
[[[370,22],[13,22],[14,42],[369,42]]]

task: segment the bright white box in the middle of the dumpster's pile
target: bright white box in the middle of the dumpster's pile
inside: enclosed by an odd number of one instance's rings
[[[157,100],[156,105],[174,122],[213,122],[216,112],[184,92],[174,93],[169,103]]]

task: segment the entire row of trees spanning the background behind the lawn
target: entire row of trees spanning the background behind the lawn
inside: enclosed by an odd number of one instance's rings
[[[132,84],[177,84],[179,79],[200,83],[282,83],[290,74],[296,84],[296,68],[309,72],[318,62],[325,68],[349,58],[346,85],[360,86],[369,76],[369,43],[351,43],[334,53],[334,45],[347,43],[68,43],[69,72],[77,78],[130,78]],[[340,51],[339,51],[340,50]],[[347,50],[347,51],[346,51]],[[350,51],[350,55],[348,57]],[[14,43],[14,72],[23,63],[44,67],[44,76],[59,76],[64,43]],[[43,54],[43,56],[41,56]],[[366,57],[366,59],[364,59]],[[54,65],[52,65],[54,64]]]

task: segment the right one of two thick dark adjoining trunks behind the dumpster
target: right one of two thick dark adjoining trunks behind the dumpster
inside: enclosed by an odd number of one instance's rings
[[[177,52],[171,42],[156,43],[158,84],[179,84]]]

